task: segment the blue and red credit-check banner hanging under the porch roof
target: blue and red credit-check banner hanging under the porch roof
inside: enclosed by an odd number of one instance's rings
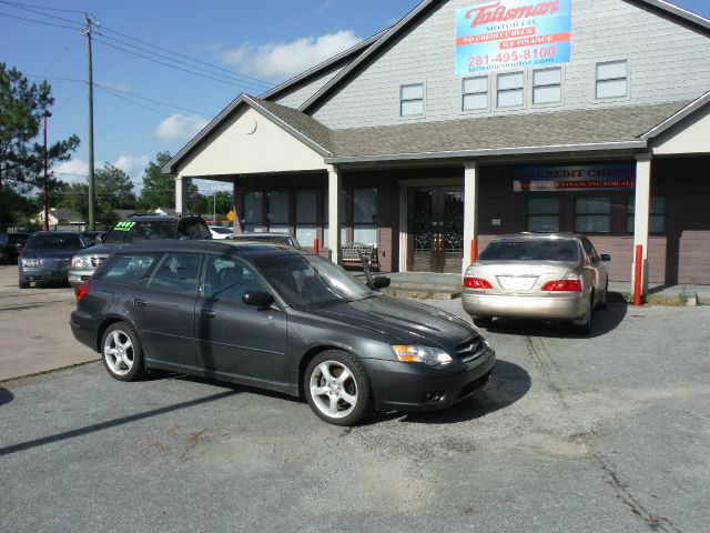
[[[621,191],[636,189],[633,163],[515,169],[514,192]]]

